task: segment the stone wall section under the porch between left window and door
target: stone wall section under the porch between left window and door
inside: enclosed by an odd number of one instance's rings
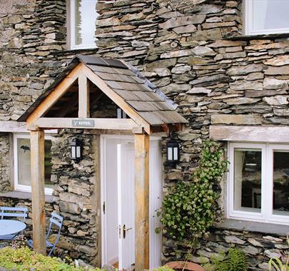
[[[76,163],[70,158],[72,138],[83,144],[83,158]],[[95,149],[93,136],[83,131],[62,131],[52,143],[52,175],[57,210],[64,216],[64,228],[58,247],[69,250],[73,259],[81,258],[98,264],[98,217],[96,205]]]

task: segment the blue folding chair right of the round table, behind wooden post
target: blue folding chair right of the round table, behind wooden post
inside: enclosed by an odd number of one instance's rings
[[[51,256],[52,252],[54,252],[54,249],[56,247],[56,243],[59,240],[63,221],[64,221],[64,218],[62,218],[60,215],[58,215],[56,213],[51,213],[49,230],[46,233],[46,247],[49,249],[49,256]],[[52,232],[54,232],[54,230],[56,230],[56,229],[57,229],[56,240],[52,244],[51,242],[49,242],[49,237],[51,236]],[[28,240],[27,245],[29,245],[29,247],[33,248],[34,247],[33,240]]]

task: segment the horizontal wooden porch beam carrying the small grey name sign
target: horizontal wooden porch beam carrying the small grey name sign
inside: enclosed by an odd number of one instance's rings
[[[93,126],[74,126],[74,121],[92,121]],[[31,126],[28,126],[30,130],[36,128],[41,129],[61,129],[61,128],[74,128],[74,129],[108,129],[108,130],[133,130],[138,126],[131,118],[39,118],[34,121]]]

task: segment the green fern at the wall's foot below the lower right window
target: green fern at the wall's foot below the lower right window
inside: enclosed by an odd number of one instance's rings
[[[216,258],[213,261],[215,271],[247,271],[248,259],[243,250],[230,248],[228,255]]]

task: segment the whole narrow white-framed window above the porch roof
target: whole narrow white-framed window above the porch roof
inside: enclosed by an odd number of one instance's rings
[[[96,48],[97,0],[70,0],[70,47],[71,49]]]

